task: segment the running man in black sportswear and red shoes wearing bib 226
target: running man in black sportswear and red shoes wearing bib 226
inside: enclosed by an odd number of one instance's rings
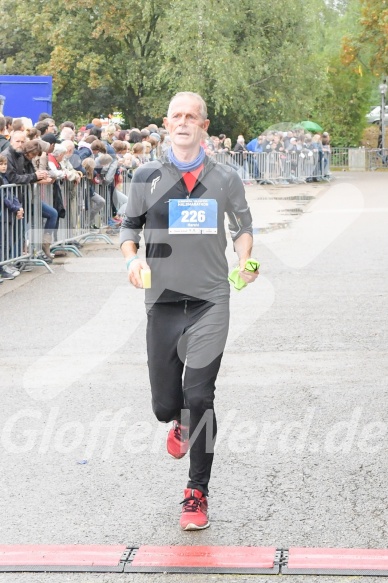
[[[229,324],[225,213],[241,277],[252,283],[258,276],[244,271],[253,238],[243,183],[201,147],[209,123],[200,95],[172,98],[164,118],[171,147],[161,160],[134,173],[120,240],[133,286],[142,288],[142,270],[151,270],[145,303],[152,407],[159,421],[172,421],[169,454],[179,459],[190,449],[180,518],[184,530],[210,525],[213,402]],[[137,255],[142,232],[146,260]]]

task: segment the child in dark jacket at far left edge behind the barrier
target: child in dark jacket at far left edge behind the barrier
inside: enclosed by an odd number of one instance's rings
[[[11,259],[9,251],[2,247],[2,241],[7,240],[7,244],[12,245],[14,240],[14,232],[12,228],[13,216],[20,220],[24,216],[24,210],[18,198],[12,194],[9,189],[1,188],[9,184],[7,179],[7,157],[0,154],[0,262]],[[9,230],[9,237],[5,238],[5,229]],[[3,234],[4,233],[4,234]],[[10,265],[0,265],[0,282],[5,279],[14,279],[20,272]]]

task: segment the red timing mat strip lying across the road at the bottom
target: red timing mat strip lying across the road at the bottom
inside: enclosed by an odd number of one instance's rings
[[[0,545],[0,572],[388,576],[386,549]]]

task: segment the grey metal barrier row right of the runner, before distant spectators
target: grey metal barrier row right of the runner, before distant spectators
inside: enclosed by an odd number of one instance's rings
[[[327,153],[303,152],[222,152],[218,162],[234,168],[242,181],[259,184],[291,184],[328,180],[330,156]]]

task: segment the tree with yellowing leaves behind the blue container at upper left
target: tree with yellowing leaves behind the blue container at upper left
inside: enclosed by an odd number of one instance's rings
[[[157,27],[164,2],[19,0],[16,4],[13,12],[28,42],[26,50],[19,45],[17,51],[17,43],[13,44],[12,60],[5,63],[8,73],[17,69],[53,75],[58,117],[80,119],[108,108],[123,111],[131,125],[145,122],[141,99],[156,74]],[[0,46],[6,44],[0,37]],[[25,52],[27,63],[20,67]]]

